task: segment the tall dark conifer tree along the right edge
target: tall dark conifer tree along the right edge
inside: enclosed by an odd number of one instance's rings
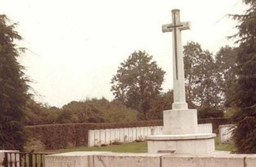
[[[237,152],[256,153],[256,1],[243,0],[249,6],[244,15],[232,15],[239,21],[237,52],[237,82],[232,96],[236,113],[234,143]]]

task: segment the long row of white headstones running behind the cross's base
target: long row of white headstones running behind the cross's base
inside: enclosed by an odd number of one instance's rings
[[[212,124],[199,124],[198,131],[199,133],[212,133]],[[88,147],[109,145],[115,141],[129,143],[159,134],[163,134],[163,126],[90,130],[88,131]]]

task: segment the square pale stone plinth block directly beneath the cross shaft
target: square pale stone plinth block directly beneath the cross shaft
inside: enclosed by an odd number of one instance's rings
[[[163,134],[198,133],[196,110],[164,110]]]

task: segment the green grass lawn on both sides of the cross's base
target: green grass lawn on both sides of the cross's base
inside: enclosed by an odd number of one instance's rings
[[[232,150],[232,145],[220,145],[218,136],[215,138],[216,150]],[[72,149],[55,150],[54,152],[72,152],[72,151],[111,151],[111,152],[147,152],[147,142],[123,143],[122,145],[111,145],[106,147],[77,147]]]

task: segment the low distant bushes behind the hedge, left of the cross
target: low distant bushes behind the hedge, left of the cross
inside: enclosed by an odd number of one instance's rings
[[[161,119],[163,110],[170,109],[172,105],[172,92],[161,94],[148,111],[150,119]],[[107,123],[107,122],[133,122],[138,119],[138,112],[132,110],[117,100],[86,99],[72,101],[57,108],[28,101],[25,110],[25,125],[40,124],[67,124],[67,123]]]

